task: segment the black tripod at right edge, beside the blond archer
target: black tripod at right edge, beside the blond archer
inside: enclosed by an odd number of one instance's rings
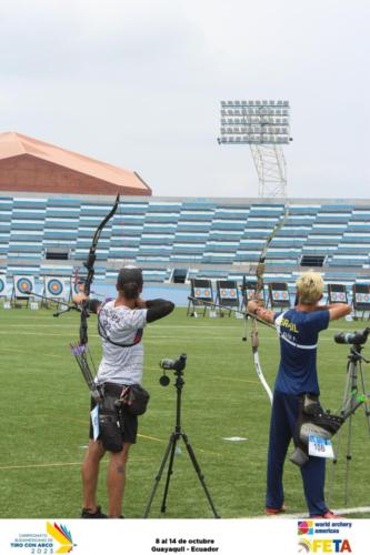
[[[349,471],[350,471],[350,462],[352,460],[351,455],[351,443],[352,443],[352,415],[357,411],[357,408],[363,403],[364,416],[368,422],[369,433],[370,433],[370,410],[367,403],[367,398],[369,394],[366,392],[364,387],[364,377],[362,371],[362,361],[369,363],[367,359],[361,354],[363,346],[360,343],[354,343],[351,346],[350,354],[348,355],[347,363],[347,381],[344,386],[344,395],[343,402],[340,410],[340,415],[343,416],[344,420],[348,420],[348,437],[347,437],[347,453],[346,453],[346,478],[344,478],[344,504],[348,504],[349,497]],[[361,392],[359,392],[358,379],[360,377]],[[342,427],[338,432],[338,441],[334,450],[334,458],[332,464],[332,472],[330,476],[330,486],[329,486],[329,505],[331,503],[332,490],[336,477],[336,468],[338,463],[339,447],[340,447],[340,437],[341,437]]]

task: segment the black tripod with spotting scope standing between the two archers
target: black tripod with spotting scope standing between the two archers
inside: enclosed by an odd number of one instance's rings
[[[207,500],[208,500],[208,502],[210,504],[210,507],[211,507],[211,509],[213,512],[213,515],[214,515],[216,518],[220,518],[220,516],[217,514],[217,511],[216,511],[216,507],[213,505],[212,498],[211,498],[211,496],[209,494],[209,491],[208,491],[208,488],[206,486],[204,476],[203,476],[203,474],[202,474],[202,472],[200,470],[200,466],[198,464],[198,461],[196,458],[194,451],[193,451],[192,446],[189,443],[187,434],[184,432],[182,432],[182,430],[181,430],[181,394],[182,394],[182,387],[183,387],[183,384],[184,384],[184,381],[183,381],[183,377],[182,377],[183,376],[184,364],[183,365],[182,364],[178,364],[178,362],[179,361],[176,361],[173,363],[172,361],[163,360],[162,363],[161,363],[161,365],[162,365],[163,369],[174,370],[174,375],[176,375],[174,386],[177,389],[176,426],[174,426],[174,431],[170,435],[170,438],[169,438],[169,442],[168,442],[168,445],[167,445],[167,448],[166,448],[166,453],[164,453],[164,456],[162,458],[161,465],[159,467],[159,472],[158,472],[158,474],[156,476],[154,485],[153,485],[152,492],[150,494],[150,497],[149,497],[149,501],[148,501],[147,508],[146,508],[143,517],[147,518],[148,515],[149,515],[152,501],[154,498],[157,488],[159,486],[159,482],[160,482],[160,480],[162,477],[162,474],[163,474],[163,471],[164,471],[164,467],[166,467],[166,463],[168,461],[168,457],[170,457],[170,462],[169,462],[169,466],[168,466],[168,471],[167,471],[167,480],[166,480],[163,500],[162,500],[162,505],[161,505],[161,513],[166,513],[166,508],[167,508],[166,507],[166,502],[167,502],[167,496],[168,496],[168,492],[169,492],[169,487],[170,487],[171,475],[173,473],[173,461],[174,461],[174,454],[177,452],[177,444],[180,441],[180,438],[182,438],[183,443],[186,444],[186,447],[187,447],[190,461],[192,462],[192,465],[193,465],[194,471],[196,471],[196,473],[198,475],[198,478],[199,478],[199,481],[200,481],[200,483],[201,483],[201,485],[202,485],[202,487],[204,490],[206,497],[207,497]],[[168,363],[171,363],[171,365],[164,365],[164,364],[168,364]],[[166,379],[166,380],[163,380],[163,379]],[[166,375],[162,376],[160,383],[162,385],[168,385],[169,384],[169,377],[166,376]]]

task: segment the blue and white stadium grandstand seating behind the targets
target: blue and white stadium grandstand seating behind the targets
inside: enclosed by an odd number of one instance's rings
[[[8,280],[20,272],[70,276],[112,203],[112,196],[2,191],[1,272]],[[141,265],[147,282],[241,280],[253,275],[283,213],[279,199],[122,196],[99,242],[97,280],[112,282],[123,263]],[[266,282],[292,285],[313,265],[327,282],[370,283],[369,253],[369,201],[291,200],[268,251]]]

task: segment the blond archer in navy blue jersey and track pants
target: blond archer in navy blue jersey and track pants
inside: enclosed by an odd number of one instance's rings
[[[280,337],[280,364],[274,384],[270,422],[267,503],[269,515],[284,511],[282,473],[289,443],[294,436],[300,397],[319,395],[317,347],[319,333],[330,320],[350,314],[343,303],[319,305],[323,281],[319,273],[304,272],[297,281],[298,304],[281,314],[248,303],[248,310],[269,323],[274,323]],[[310,456],[301,467],[304,497],[311,517],[334,518],[324,502],[326,460]]]

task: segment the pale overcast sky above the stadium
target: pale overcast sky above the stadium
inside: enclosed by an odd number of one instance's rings
[[[369,198],[368,0],[12,0],[0,131],[137,171],[157,196],[258,195],[220,101],[283,99],[289,198]]]

